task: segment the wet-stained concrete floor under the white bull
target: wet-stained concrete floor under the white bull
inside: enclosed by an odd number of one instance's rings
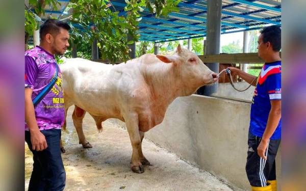
[[[193,167],[175,154],[143,140],[143,152],[152,166],[143,174],[130,170],[132,146],[127,131],[111,121],[98,133],[94,120],[86,114],[83,129],[93,148],[79,145],[69,108],[67,130],[62,132],[66,153],[65,190],[233,190],[208,172]],[[25,188],[32,171],[32,153],[25,145]],[[234,188],[236,190],[236,188]]]

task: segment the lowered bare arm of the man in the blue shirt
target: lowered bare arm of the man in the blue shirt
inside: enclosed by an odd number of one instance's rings
[[[282,100],[270,100],[270,102],[271,110],[268,117],[267,127],[257,148],[258,155],[265,160],[267,159],[267,156],[265,156],[265,151],[268,147],[268,141],[277,128],[279,120],[281,120],[282,117]]]

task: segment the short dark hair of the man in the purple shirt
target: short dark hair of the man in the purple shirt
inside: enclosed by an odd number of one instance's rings
[[[67,31],[70,30],[70,26],[66,22],[49,18],[40,26],[39,37],[42,40],[45,38],[46,34],[52,34],[53,36],[56,36],[60,33],[60,28],[63,28]]]

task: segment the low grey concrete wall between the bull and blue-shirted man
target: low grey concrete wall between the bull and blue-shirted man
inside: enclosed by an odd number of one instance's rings
[[[233,186],[249,190],[245,174],[249,115],[250,103],[199,95],[180,97],[145,138]],[[280,155],[276,158],[278,179]]]

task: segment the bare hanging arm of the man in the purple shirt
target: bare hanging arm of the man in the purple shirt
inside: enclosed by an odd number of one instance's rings
[[[25,122],[27,122],[30,130],[32,149],[42,151],[47,148],[47,142],[36,122],[34,105],[31,98],[32,92],[31,88],[24,89]]]

